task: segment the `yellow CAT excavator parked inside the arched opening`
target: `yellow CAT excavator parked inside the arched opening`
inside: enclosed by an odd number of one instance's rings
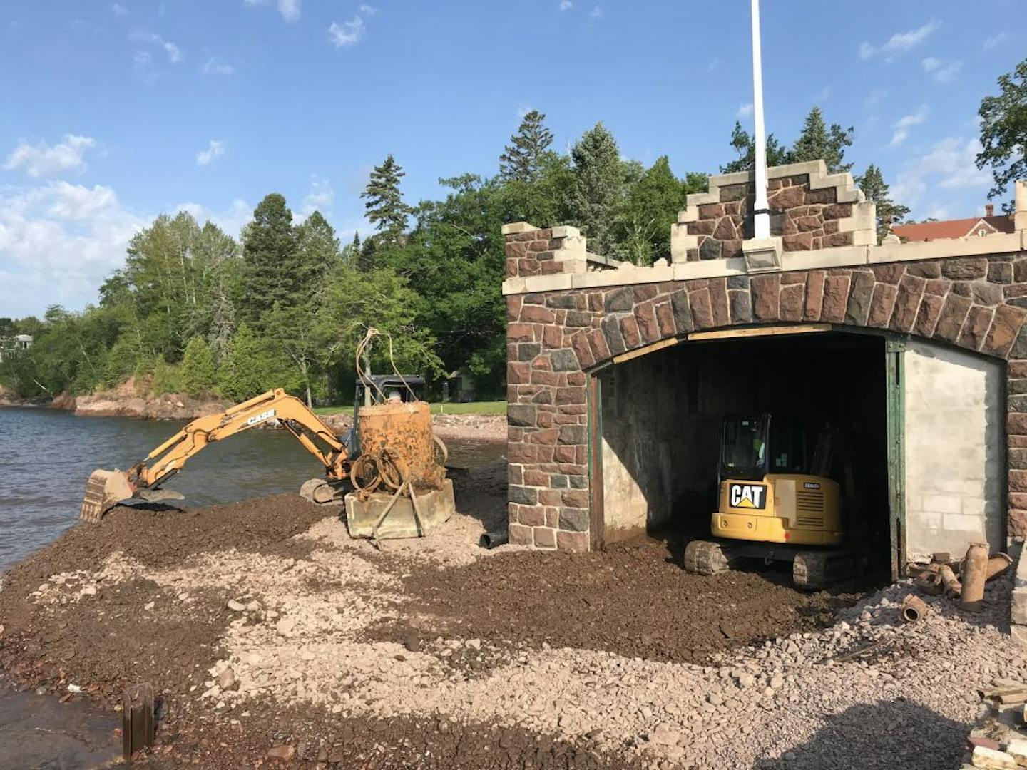
[[[806,462],[805,432],[797,420],[771,415],[729,416],[721,435],[714,540],[685,546],[685,569],[726,572],[741,559],[792,563],[797,587],[819,588],[851,574],[855,560],[845,540],[840,486],[827,476],[834,436],[821,432]]]

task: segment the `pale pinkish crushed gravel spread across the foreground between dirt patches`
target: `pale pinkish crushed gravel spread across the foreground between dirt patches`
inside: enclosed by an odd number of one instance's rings
[[[144,572],[162,593],[147,612],[188,612],[195,594],[231,590],[222,657],[181,694],[236,723],[268,699],[346,717],[445,715],[557,735],[654,767],[954,767],[977,715],[976,689],[995,677],[1027,678],[1027,658],[999,630],[1009,580],[989,585],[980,614],[928,598],[931,612],[914,624],[900,619],[911,590],[904,582],[839,611],[823,630],[695,665],[431,637],[430,618],[403,592],[404,575],[389,569],[404,560],[336,542],[331,527],[340,525],[320,523],[300,536],[317,543],[307,559],[228,550],[146,571],[115,554],[91,576],[54,576],[32,601],[88,602],[81,586]],[[464,561],[435,551],[423,557],[439,569]],[[421,625],[408,644],[366,640],[372,622],[398,616]]]

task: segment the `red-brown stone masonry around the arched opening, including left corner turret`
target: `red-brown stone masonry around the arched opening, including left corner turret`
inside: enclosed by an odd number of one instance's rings
[[[828,205],[828,204],[825,204]],[[553,231],[506,236],[541,274]],[[832,322],[955,345],[1007,364],[1009,529],[1027,535],[1027,253],[506,298],[510,541],[588,548],[587,371],[629,350],[751,323]]]

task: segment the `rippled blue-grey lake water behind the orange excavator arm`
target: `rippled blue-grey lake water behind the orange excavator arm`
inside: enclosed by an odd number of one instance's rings
[[[75,417],[50,409],[0,409],[0,570],[78,521],[85,479],[143,459],[183,421]],[[490,462],[503,444],[447,440],[450,463]],[[283,430],[249,430],[211,445],[168,484],[189,506],[298,491],[321,465]]]

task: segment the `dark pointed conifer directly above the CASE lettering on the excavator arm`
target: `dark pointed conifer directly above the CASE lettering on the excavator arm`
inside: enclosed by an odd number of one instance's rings
[[[243,318],[263,330],[275,303],[292,305],[300,287],[293,213],[286,198],[271,193],[254,209],[242,233]]]

